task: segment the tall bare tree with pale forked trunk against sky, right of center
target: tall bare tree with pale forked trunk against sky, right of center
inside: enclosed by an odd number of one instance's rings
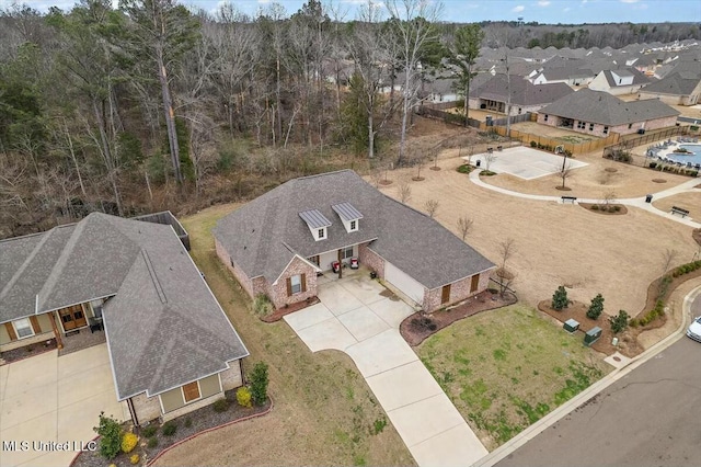
[[[397,166],[404,163],[406,151],[406,132],[409,129],[409,116],[414,105],[418,102],[417,95],[421,88],[421,68],[429,54],[438,44],[438,31],[435,23],[440,19],[443,3],[428,0],[390,0],[387,2],[390,12],[391,27],[397,32],[399,52],[404,72],[402,83],[402,125],[399,140],[399,157]]]

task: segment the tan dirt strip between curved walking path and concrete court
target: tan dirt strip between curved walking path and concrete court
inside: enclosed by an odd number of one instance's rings
[[[689,180],[688,176],[613,162],[601,158],[601,151],[577,156],[576,160],[587,162],[588,166],[572,170],[565,180],[565,186],[571,189],[567,193],[571,196],[604,198],[608,192],[613,192],[616,198],[645,196],[647,193],[656,193]],[[666,182],[653,181],[660,179]],[[484,181],[520,193],[562,195],[562,192],[556,190],[556,186],[562,185],[559,173],[536,180],[499,174],[485,178]]]

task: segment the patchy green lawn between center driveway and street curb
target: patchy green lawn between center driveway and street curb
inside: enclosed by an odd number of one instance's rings
[[[612,369],[524,305],[458,321],[418,356],[492,451]]]

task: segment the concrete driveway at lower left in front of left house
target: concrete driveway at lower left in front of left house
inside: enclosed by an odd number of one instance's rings
[[[128,418],[126,406],[117,402],[106,344],[0,366],[0,465],[69,465],[81,443],[96,436],[92,429],[101,411],[119,421]],[[69,451],[38,442],[69,442]]]

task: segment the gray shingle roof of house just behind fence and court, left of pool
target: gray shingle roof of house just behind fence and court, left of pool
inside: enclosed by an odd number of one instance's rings
[[[601,125],[623,125],[679,115],[656,99],[624,102],[604,91],[582,89],[540,110],[542,114]]]

